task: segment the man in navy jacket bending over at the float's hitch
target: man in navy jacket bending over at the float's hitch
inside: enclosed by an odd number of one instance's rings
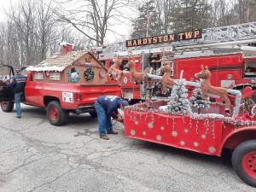
[[[113,131],[111,117],[117,119],[118,108],[125,108],[128,102],[119,96],[99,96],[95,102],[95,108],[99,124],[99,135],[102,139],[108,140],[107,134],[118,134]],[[107,134],[106,134],[107,133]]]

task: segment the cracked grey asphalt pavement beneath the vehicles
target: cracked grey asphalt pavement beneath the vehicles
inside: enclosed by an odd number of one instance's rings
[[[119,135],[103,141],[97,121],[73,116],[49,125],[43,108],[22,119],[0,112],[0,191],[256,191],[228,161]]]

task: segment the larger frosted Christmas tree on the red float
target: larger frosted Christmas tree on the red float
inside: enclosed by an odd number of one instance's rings
[[[184,86],[184,79],[179,79],[172,88],[170,102],[167,103],[170,113],[191,114],[188,99],[188,90]]]

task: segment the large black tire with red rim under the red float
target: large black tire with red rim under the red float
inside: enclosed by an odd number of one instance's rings
[[[241,180],[256,187],[256,140],[236,147],[232,155],[232,165]]]

